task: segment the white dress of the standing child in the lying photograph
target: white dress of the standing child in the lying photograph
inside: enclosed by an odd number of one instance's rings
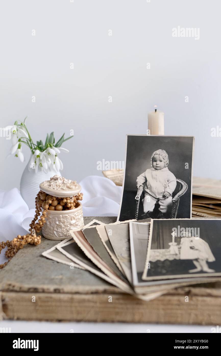
[[[208,243],[200,239],[200,237],[182,237],[180,245],[181,260],[195,260],[199,258],[208,262],[215,261]]]

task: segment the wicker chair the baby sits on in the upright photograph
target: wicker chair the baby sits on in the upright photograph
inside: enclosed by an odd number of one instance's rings
[[[172,210],[171,210],[171,215],[170,215],[171,219],[176,218],[178,206],[179,206],[179,198],[182,197],[182,195],[186,193],[186,191],[188,189],[188,185],[183,180],[177,179],[177,186],[176,186],[175,192],[177,192],[177,188],[178,188],[178,193],[176,193],[176,195],[172,198]],[[140,197],[141,197],[142,193],[143,193],[143,186],[140,185],[140,187],[138,188],[138,191],[137,191],[137,195],[135,197],[135,200],[136,200],[135,218],[136,219],[138,218],[139,203],[140,203]]]

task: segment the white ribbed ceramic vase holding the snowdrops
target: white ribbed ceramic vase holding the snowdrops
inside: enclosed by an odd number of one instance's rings
[[[32,155],[31,155],[32,157]],[[30,159],[31,159],[30,157]],[[29,161],[30,161],[29,159]],[[48,180],[53,177],[55,174],[61,176],[61,173],[55,173],[54,171],[50,171],[45,173],[44,171],[39,170],[35,173],[35,170],[28,170],[28,165],[24,168],[24,172],[22,173],[21,182],[20,182],[20,193],[29,209],[35,208],[35,197],[39,192],[40,183],[44,182],[44,180]]]

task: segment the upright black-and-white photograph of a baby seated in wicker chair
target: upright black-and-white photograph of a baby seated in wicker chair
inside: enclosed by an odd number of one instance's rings
[[[193,136],[127,135],[118,220],[191,218]]]

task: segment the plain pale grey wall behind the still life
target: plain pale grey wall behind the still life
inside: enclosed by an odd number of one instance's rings
[[[215,0],[5,1],[0,126],[28,115],[35,141],[74,129],[63,145],[70,153],[60,158],[63,175],[79,181],[102,175],[97,161],[123,161],[126,133],[146,133],[156,104],[165,135],[195,136],[194,176],[219,179],[221,138],[211,128],[221,127],[220,7]],[[178,26],[199,27],[199,40],[172,37]],[[25,167],[6,158],[9,149],[1,137],[0,189],[19,187]]]

